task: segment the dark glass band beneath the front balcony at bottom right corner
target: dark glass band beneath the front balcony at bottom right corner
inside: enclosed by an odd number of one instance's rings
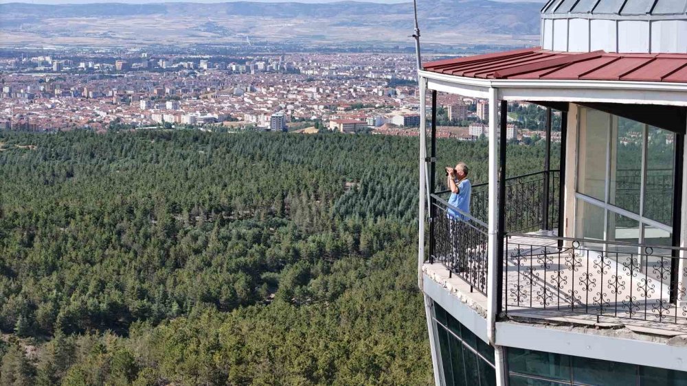
[[[685,385],[687,372],[508,348],[508,385]]]

